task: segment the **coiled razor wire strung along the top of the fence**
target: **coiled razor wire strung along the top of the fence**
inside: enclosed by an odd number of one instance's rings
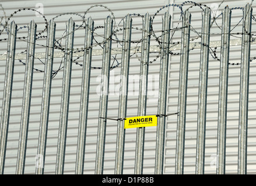
[[[254,1],[254,0],[253,0],[253,1]],[[252,6],[253,1],[251,1],[250,6]],[[225,0],[223,0],[223,1],[219,4],[218,9],[220,8],[220,5],[222,5],[223,2],[225,2]],[[188,5],[188,8],[185,8],[185,9],[184,9],[184,6],[185,6],[185,5]],[[120,24],[121,24],[122,21],[124,20],[124,17],[122,17],[122,19],[117,23],[117,22],[116,22],[116,17],[114,16],[113,10],[111,10],[111,9],[108,8],[107,6],[104,6],[104,5],[93,5],[93,6],[90,6],[90,8],[88,8],[88,9],[83,13],[83,15],[82,15],[82,14],[79,14],[79,13],[76,13],[76,12],[61,13],[61,14],[59,14],[59,15],[53,17],[52,20],[57,19],[58,17],[64,16],[64,15],[78,16],[78,17],[80,17],[80,19],[82,20],[82,24],[80,24],[80,25],[79,25],[79,24],[76,24],[76,25],[75,25],[75,31],[78,30],[79,28],[86,29],[86,27],[87,27],[87,24],[86,24],[86,16],[87,16],[87,13],[88,13],[90,10],[92,10],[93,8],[96,8],[96,7],[106,9],[108,12],[110,12],[110,16],[113,18],[114,24],[113,24],[113,32],[112,32],[112,34],[111,34],[111,37],[109,37],[109,38],[104,38],[102,35],[100,35],[100,34],[97,33],[97,30],[99,30],[99,29],[101,29],[101,28],[104,28],[104,26],[96,26],[96,27],[94,27],[94,29],[92,30],[93,35],[98,35],[98,36],[100,36],[101,38],[103,38],[103,41],[101,41],[101,42],[100,42],[100,41],[97,41],[97,40],[96,40],[96,37],[93,36],[94,43],[93,43],[93,45],[92,45],[92,48],[94,48],[94,47],[103,48],[104,42],[106,42],[106,41],[108,41],[108,40],[112,40],[112,42],[115,42],[115,43],[117,44],[117,48],[120,47],[120,46],[122,46],[122,43],[125,42],[125,41],[122,41],[122,40],[120,40],[120,38],[118,38],[118,32],[124,31],[124,29],[125,29],[125,28],[120,28]],[[211,27],[213,26],[213,24],[215,24],[215,25],[220,29],[220,31],[222,30],[222,28],[221,28],[221,27],[218,25],[218,23],[216,22],[216,20],[219,19],[219,17],[222,16],[222,13],[220,13],[219,15],[215,15],[215,13],[214,13],[213,10],[211,9],[211,7],[209,7],[209,6],[207,6],[207,5],[203,4],[203,3],[197,3],[197,2],[194,2],[194,1],[184,1],[184,2],[181,3],[181,4],[172,3],[172,4],[164,5],[164,6],[160,7],[158,10],[156,10],[156,12],[153,14],[153,16],[152,16],[151,29],[150,29],[150,32],[148,33],[148,35],[150,35],[150,40],[155,40],[155,41],[157,42],[157,44],[158,44],[157,46],[158,46],[159,49],[160,49],[159,51],[161,51],[162,44],[163,44],[163,42],[160,41],[160,37],[162,37],[162,35],[160,35],[160,36],[157,37],[157,36],[156,36],[156,33],[157,33],[157,32],[163,32],[164,30],[162,30],[162,31],[155,31],[155,30],[154,30],[154,24],[153,24],[153,23],[154,23],[155,17],[156,17],[157,15],[161,14],[164,9],[169,8],[169,7],[177,8],[177,9],[180,10],[180,19],[178,20],[176,26],[173,26],[173,28],[171,28],[171,29],[169,30],[169,32],[171,33],[171,37],[170,37],[170,41],[169,41],[169,42],[170,42],[170,44],[173,45],[173,46],[174,46],[174,45],[178,45],[178,44],[181,43],[180,41],[178,41],[178,42],[171,42],[171,41],[173,40],[173,37],[174,37],[174,34],[176,33],[176,31],[181,30],[181,29],[183,28],[183,27],[180,27],[179,24],[181,23],[181,20],[182,20],[182,19],[185,19],[185,16],[184,16],[184,15],[185,15],[185,11],[190,10],[190,9],[192,9],[192,8],[199,8],[199,9],[201,9],[202,12],[204,12],[204,9],[205,9],[205,8],[208,8],[208,9],[212,12],[212,15],[213,15],[212,20],[211,20]],[[218,11],[218,9],[216,10],[216,12]],[[234,8],[230,8],[230,10],[241,10],[241,11],[244,11],[244,8],[243,8],[243,7],[234,7]],[[15,19],[15,15],[17,15],[18,13],[23,12],[23,11],[32,11],[32,12],[36,12],[36,13],[40,14],[40,16],[44,19],[44,24],[45,24],[45,26],[44,26],[43,30],[39,31],[39,32],[36,34],[36,40],[40,40],[40,39],[42,39],[42,38],[47,38],[47,35],[44,35],[44,33],[45,33],[45,30],[47,30],[47,27],[48,27],[48,19],[47,19],[47,17],[45,17],[45,15],[43,15],[43,14],[42,14],[41,12],[39,12],[38,10],[33,9],[33,8],[22,8],[22,9],[16,10],[16,11],[13,12],[12,14],[10,14],[9,16],[6,16],[5,10],[4,10],[3,6],[0,4],[0,11],[2,11],[2,12],[3,12],[3,15],[4,15],[4,16],[2,16],[1,19],[0,19],[0,43],[1,43],[1,41],[7,41],[7,40],[8,40],[8,38],[1,38],[1,36],[3,36],[3,33],[5,33],[5,32],[6,32],[7,34],[9,33],[9,22],[10,22],[10,20],[11,20],[11,19]],[[141,19],[143,19],[143,17],[144,17],[143,15],[141,15],[141,14],[139,14],[139,13],[130,13],[129,16],[141,17]],[[242,35],[243,33],[233,33],[232,31],[233,31],[234,28],[236,28],[239,24],[241,24],[241,23],[243,22],[243,20],[244,20],[244,17],[242,16],[241,19],[239,20],[239,22],[238,22],[233,28],[231,28],[231,30],[230,30],[230,36],[232,36],[232,37],[241,37],[241,35]],[[254,20],[254,22],[256,22],[256,19],[255,19],[254,16],[253,16],[253,20]],[[5,23],[3,23],[3,22],[5,22]],[[190,23],[188,23],[188,24],[190,24]],[[2,27],[2,28],[1,28],[1,27]],[[17,29],[17,31],[23,30],[23,29],[25,29],[25,28],[28,28],[28,26],[20,26],[20,27]],[[131,29],[132,29],[132,30],[142,31],[142,28],[139,28],[139,27],[132,27]],[[197,31],[191,24],[190,24],[190,29],[191,29],[192,32],[194,32],[194,33],[197,35],[197,37],[191,38],[191,39],[190,39],[190,42],[195,41],[195,40],[198,40],[198,38],[201,38],[202,33],[199,32],[199,31]],[[219,34],[219,35],[220,35],[221,33],[210,33],[210,35],[216,35],[216,34]],[[255,41],[255,38],[256,38],[255,36],[256,36],[256,34],[248,33],[247,31],[245,31],[244,34],[250,35],[251,41]],[[146,35],[145,38],[146,38],[148,35]],[[52,77],[55,77],[55,76],[57,75],[58,71],[60,71],[61,69],[63,69],[62,61],[63,61],[64,56],[65,56],[65,49],[66,49],[66,48],[62,46],[62,40],[63,40],[64,38],[66,38],[66,37],[67,37],[67,35],[66,35],[65,31],[64,31],[64,33],[62,34],[62,37],[60,37],[60,38],[55,38],[54,49],[57,49],[57,50],[59,50],[59,51],[62,51],[62,52],[63,52],[63,56],[62,56],[62,59],[61,59],[61,62],[60,62],[60,64],[59,64],[58,69],[57,69],[57,70],[52,70]],[[27,36],[17,37],[18,40],[24,41],[24,42],[27,42],[26,38],[27,38]],[[134,55],[135,55],[135,56],[136,56],[136,59],[138,59],[139,62],[141,62],[141,59],[140,59],[140,56],[138,55],[138,52],[139,52],[139,46],[138,46],[138,45],[141,44],[141,42],[142,42],[145,38],[141,38],[141,40],[132,40],[132,41],[131,41],[132,44],[135,44],[135,45],[136,45],[136,47],[135,47],[136,50],[135,50],[134,53],[131,53],[131,56],[134,56]],[[199,42],[199,44],[200,44],[200,42]],[[50,48],[50,47],[47,46],[47,45],[42,45],[42,44],[37,44],[37,43],[36,43],[35,45],[40,46],[40,47]],[[73,48],[72,51],[73,51],[73,53],[76,53],[76,52],[84,52],[86,49],[89,49],[89,48],[83,48],[83,47],[80,47],[80,48]],[[190,51],[192,51],[192,50],[194,50],[194,49],[195,49],[195,47],[192,47],[192,48],[190,49]],[[210,46],[209,46],[209,52],[210,52],[212,58],[220,62],[220,58],[219,58],[219,56],[218,56],[218,54],[217,54],[217,52],[218,52],[217,49],[218,49],[217,47],[210,47]],[[70,49],[69,49],[69,51],[70,51]],[[21,54],[21,53],[26,53],[26,52],[27,52],[27,51],[24,50],[24,51],[20,52],[20,54]],[[170,55],[180,55],[180,52],[176,52],[176,53],[175,53],[175,52],[173,52],[173,51],[170,50],[170,51],[169,51],[169,54],[170,54]],[[151,53],[151,55],[152,55],[152,53]],[[78,65],[78,66],[82,67],[83,64],[81,64],[81,63],[78,62],[78,59],[80,59],[82,56],[83,56],[83,55],[76,57],[75,59],[72,60],[72,62],[75,63],[75,65]],[[113,69],[115,69],[116,67],[118,67],[118,66],[121,64],[121,62],[118,61],[117,55],[111,55],[111,56],[112,56],[112,58],[113,58],[113,62],[112,62],[112,65],[111,65],[111,67],[110,67],[110,70],[113,70]],[[156,53],[155,56],[153,57],[153,59],[150,60],[150,62],[148,62],[148,63],[150,64],[150,63],[156,62],[156,60],[159,59],[159,58],[160,58],[160,52]],[[43,62],[40,58],[35,58],[35,59],[40,60],[40,62],[43,63],[43,65],[44,65],[44,62]],[[253,57],[250,59],[250,62],[252,62],[252,61],[255,60],[255,59],[256,59],[256,56],[253,56]],[[23,62],[22,59],[18,59],[18,60],[19,60],[19,62],[22,63],[23,65],[26,65],[26,63]],[[141,63],[142,63],[142,62],[141,62]],[[241,65],[241,63],[239,63],[239,62],[237,62],[237,63],[229,63],[229,65]],[[101,66],[92,66],[91,68],[92,68],[92,69],[101,69]],[[36,68],[34,68],[34,70],[35,70],[35,71],[39,71],[39,72],[44,72],[44,70],[41,70],[41,69],[36,69]]]

